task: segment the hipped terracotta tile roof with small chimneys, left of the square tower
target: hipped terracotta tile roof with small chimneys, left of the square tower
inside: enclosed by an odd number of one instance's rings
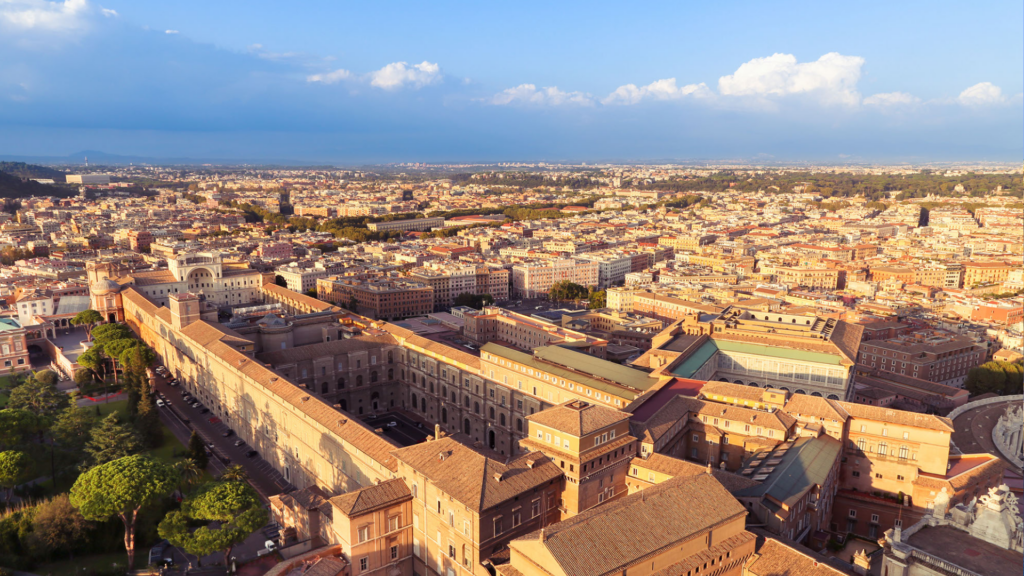
[[[482,511],[562,476],[561,468],[539,452],[503,463],[459,442],[453,435],[391,453],[427,477],[439,490],[473,510]]]

